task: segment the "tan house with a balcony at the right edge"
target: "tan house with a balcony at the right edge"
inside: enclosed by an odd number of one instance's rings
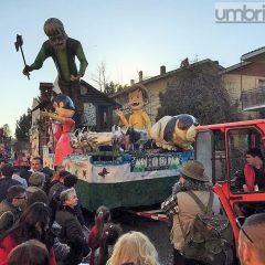
[[[243,54],[241,63],[227,67],[223,76],[232,100],[239,103],[242,117],[264,118],[265,47]]]

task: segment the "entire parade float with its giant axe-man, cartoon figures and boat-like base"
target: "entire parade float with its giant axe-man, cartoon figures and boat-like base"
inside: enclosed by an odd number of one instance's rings
[[[45,135],[50,140],[46,147],[42,146],[44,167],[54,169],[64,165],[67,171],[76,174],[78,198],[91,211],[102,204],[120,208],[160,203],[171,193],[179,167],[193,158],[195,118],[166,116],[152,126],[144,110],[148,93],[137,84],[128,89],[130,116],[126,117],[121,109],[116,110],[121,127],[114,126],[108,132],[91,131],[85,126],[81,99],[80,78],[87,67],[82,44],[68,38],[62,21],[55,18],[45,21],[44,32],[49,40],[31,65],[25,63],[22,36],[17,35],[15,42],[28,78],[47,57],[53,59],[57,68],[53,99],[43,98],[33,108],[39,112],[40,119],[39,127],[33,125],[31,130],[32,149],[36,152],[35,145],[41,142],[38,128],[47,125],[44,129],[50,131],[49,137]],[[75,57],[80,61],[78,71]]]

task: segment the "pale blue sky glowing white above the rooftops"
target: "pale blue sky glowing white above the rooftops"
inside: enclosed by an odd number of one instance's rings
[[[222,1],[226,4],[231,1]],[[242,3],[243,1],[237,1]],[[250,0],[247,2],[251,2]],[[43,24],[49,18],[64,23],[70,38],[78,40],[88,61],[86,82],[96,86],[104,63],[108,81],[129,84],[138,77],[179,67],[189,57],[211,59],[229,67],[241,55],[264,46],[264,23],[216,23],[212,0],[2,0],[0,1],[0,127],[15,121],[40,95],[40,82],[53,83],[52,59],[43,67],[22,74],[23,61],[15,51],[17,34],[23,36],[28,64],[33,63],[47,40]],[[77,61],[78,65],[78,61]]]

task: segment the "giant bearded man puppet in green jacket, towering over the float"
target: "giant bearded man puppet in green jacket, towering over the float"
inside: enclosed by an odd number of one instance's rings
[[[42,67],[47,57],[52,57],[57,68],[57,83],[63,94],[70,96],[76,107],[75,120],[82,126],[83,104],[81,102],[80,78],[84,76],[88,65],[81,43],[66,35],[63,23],[55,18],[47,19],[44,23],[44,32],[49,40],[42,44],[33,64],[25,65],[23,74]],[[80,71],[75,64],[75,56],[80,61]]]

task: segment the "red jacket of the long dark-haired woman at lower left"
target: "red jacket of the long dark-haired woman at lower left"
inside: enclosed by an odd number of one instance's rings
[[[0,265],[7,265],[9,253],[18,245],[15,239],[12,235],[7,235],[1,241],[0,247]],[[55,255],[53,248],[50,250],[50,263],[49,265],[56,265]]]

